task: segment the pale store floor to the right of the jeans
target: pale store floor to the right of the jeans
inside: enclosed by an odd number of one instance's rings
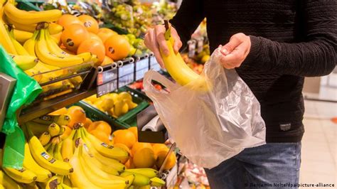
[[[331,121],[337,117],[336,103],[305,101],[305,107],[300,183],[336,185],[337,124]]]

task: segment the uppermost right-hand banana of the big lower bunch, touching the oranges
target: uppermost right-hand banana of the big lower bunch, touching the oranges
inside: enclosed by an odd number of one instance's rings
[[[124,149],[105,144],[104,142],[96,139],[95,136],[92,136],[92,134],[89,134],[84,128],[80,129],[82,129],[84,136],[87,137],[92,146],[94,146],[94,148],[103,156],[114,158],[122,162],[126,162],[127,159],[129,159],[129,153],[127,153]]]

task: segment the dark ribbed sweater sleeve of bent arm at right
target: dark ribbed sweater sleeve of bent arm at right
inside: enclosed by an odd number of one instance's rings
[[[337,63],[336,10],[336,0],[302,1],[303,42],[278,43],[250,36],[252,46],[242,69],[306,77],[328,75]]]

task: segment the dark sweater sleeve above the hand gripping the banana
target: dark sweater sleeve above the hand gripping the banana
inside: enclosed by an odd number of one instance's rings
[[[192,33],[203,21],[205,15],[203,13],[202,0],[183,0],[176,16],[170,21],[172,26],[176,28],[183,45],[190,40]]]

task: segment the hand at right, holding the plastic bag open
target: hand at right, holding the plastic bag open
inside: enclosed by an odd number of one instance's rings
[[[223,45],[220,63],[226,69],[239,68],[250,53],[250,37],[244,33],[237,33],[230,38],[230,42]]]

